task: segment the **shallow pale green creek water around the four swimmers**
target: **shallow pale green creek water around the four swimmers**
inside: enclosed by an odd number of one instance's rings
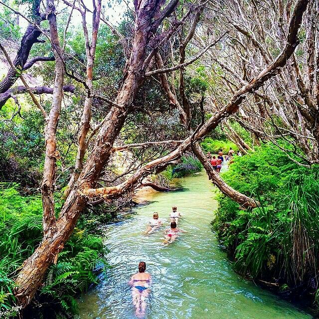
[[[293,319],[311,318],[291,304],[236,275],[210,230],[216,201],[206,175],[183,179],[183,192],[150,193],[151,204],[137,208],[133,218],[106,228],[112,269],[79,303],[81,319],[133,319],[128,280],[146,261],[153,276],[148,319]],[[187,233],[168,247],[160,245],[172,205],[184,218]],[[153,212],[165,226],[142,235]]]

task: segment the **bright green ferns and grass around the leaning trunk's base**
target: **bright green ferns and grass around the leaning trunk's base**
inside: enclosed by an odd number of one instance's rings
[[[59,208],[59,207],[58,207]],[[102,238],[86,225],[90,216],[79,220],[71,238],[52,265],[25,318],[69,317],[77,312],[74,297],[97,283],[96,266],[106,265]],[[40,197],[23,197],[17,184],[0,184],[0,318],[17,315],[14,278],[19,267],[42,238]],[[102,267],[103,268],[103,267]]]

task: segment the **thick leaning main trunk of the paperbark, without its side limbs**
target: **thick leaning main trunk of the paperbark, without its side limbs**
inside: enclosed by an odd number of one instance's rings
[[[177,4],[177,1],[176,1]],[[23,264],[16,279],[15,297],[22,307],[28,305],[43,281],[48,267],[56,260],[64,243],[69,239],[77,219],[86,204],[81,195],[84,188],[95,187],[102,169],[112,153],[118,137],[141,85],[144,81],[143,64],[147,44],[151,37],[154,16],[159,12],[160,1],[142,0],[137,5],[135,33],[130,60],[125,67],[123,84],[117,99],[101,127],[96,144],[79,176],[77,187],[72,188],[51,231],[48,231],[39,247]]]

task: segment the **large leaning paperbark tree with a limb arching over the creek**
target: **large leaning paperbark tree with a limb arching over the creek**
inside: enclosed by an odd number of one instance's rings
[[[253,93],[265,82],[274,78],[284,67],[288,59],[293,54],[297,44],[297,33],[302,21],[302,16],[306,10],[308,0],[298,0],[289,24],[289,32],[286,44],[278,57],[261,72],[252,78],[247,84],[237,90],[229,102],[220,107],[207,122],[198,127],[194,133],[186,138],[173,152],[168,155],[152,160],[135,173],[129,176],[123,183],[116,186],[96,188],[101,171],[107,165],[113,150],[113,144],[118,137],[128,113],[132,110],[133,101],[145,80],[145,72],[152,57],[157,52],[157,45],[153,44],[151,52],[148,50],[150,40],[158,30],[161,22],[169,16],[178,4],[177,0],[171,0],[166,7],[160,11],[161,1],[158,0],[136,0],[135,1],[135,27],[132,39],[130,58],[125,66],[124,77],[118,95],[112,108],[100,127],[95,140],[95,145],[83,165],[77,183],[70,188],[70,192],[65,200],[61,212],[55,219],[53,186],[55,161],[58,156],[55,148],[55,130],[59,113],[60,99],[63,85],[63,67],[60,68],[63,58],[59,51],[57,34],[54,32],[54,6],[52,0],[48,2],[48,17],[50,22],[51,41],[54,47],[56,59],[56,86],[53,92],[53,102],[50,111],[49,125],[46,134],[46,163],[42,186],[43,193],[43,223],[44,235],[40,245],[34,253],[23,263],[20,273],[16,279],[17,288],[15,296],[20,305],[26,306],[34,296],[37,288],[41,284],[47,268],[56,261],[59,252],[63,249],[64,243],[70,237],[76,221],[83,210],[88,197],[101,196],[106,199],[115,198],[134,189],[150,173],[161,170],[174,160],[178,160],[181,155],[191,147],[191,145],[206,134],[211,132],[225,118],[235,114],[240,104],[246,99],[249,93]],[[50,5],[49,5],[50,4]],[[51,29],[52,27],[52,29]],[[56,28],[55,28],[56,30]],[[163,39],[169,38],[176,31],[176,27],[165,32]],[[158,41],[158,43],[163,43]],[[159,45],[159,44],[158,44]],[[60,60],[59,60],[60,59]],[[52,113],[52,116],[51,116]],[[52,173],[52,177],[48,173]]]

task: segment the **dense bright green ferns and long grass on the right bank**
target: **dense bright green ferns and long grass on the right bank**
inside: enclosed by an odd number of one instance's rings
[[[287,297],[319,302],[319,166],[298,165],[268,144],[236,157],[223,179],[258,199],[242,210],[224,195],[213,227],[235,270]]]

